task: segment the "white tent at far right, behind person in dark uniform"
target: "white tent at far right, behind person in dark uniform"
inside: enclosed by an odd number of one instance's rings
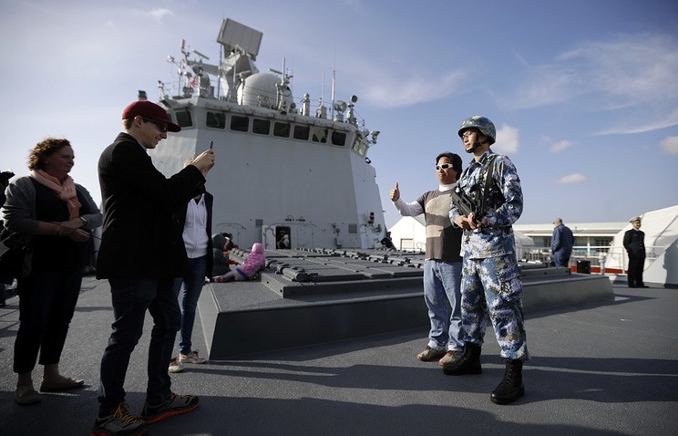
[[[642,273],[643,281],[659,285],[678,285],[678,205],[643,213],[641,218],[647,254]],[[626,271],[629,258],[623,241],[624,234],[631,228],[629,223],[614,236],[605,268]]]

